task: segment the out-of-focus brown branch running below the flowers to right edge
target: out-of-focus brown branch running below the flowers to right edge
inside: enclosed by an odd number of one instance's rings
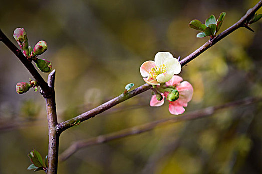
[[[84,148],[84,147],[93,146],[93,145],[96,145],[96,144],[105,143],[105,142],[108,142],[108,141],[111,141],[111,140],[120,139],[120,138],[127,137],[127,136],[130,136],[130,135],[136,135],[136,134],[140,134],[140,133],[143,133],[143,132],[147,132],[147,131],[150,131],[150,130],[152,130],[152,129],[156,128],[157,126],[160,126],[160,125],[162,126],[162,125],[166,125],[166,124],[170,124],[170,123],[176,123],[176,122],[180,122],[180,121],[204,118],[206,116],[210,116],[210,115],[214,114],[214,112],[216,112],[220,109],[229,108],[229,107],[237,107],[237,106],[240,106],[240,105],[248,105],[248,104],[252,104],[252,103],[255,103],[255,102],[258,102],[258,101],[261,101],[261,100],[262,100],[262,98],[256,98],[256,97],[245,98],[245,99],[242,99],[242,100],[233,101],[233,102],[226,103],[226,104],[223,104],[223,105],[211,106],[211,107],[207,107],[205,109],[193,111],[193,112],[187,113],[183,116],[176,116],[176,117],[171,117],[171,118],[167,118],[167,119],[161,119],[161,120],[153,121],[153,122],[146,123],[146,124],[143,124],[143,125],[140,125],[140,126],[136,126],[136,127],[132,127],[132,128],[128,128],[128,129],[123,129],[121,131],[101,135],[101,136],[91,138],[91,139],[88,139],[88,140],[77,141],[77,142],[73,143],[69,148],[67,148],[62,154],[60,154],[59,160],[65,161],[72,154],[74,154],[76,151],[78,151],[79,149]]]

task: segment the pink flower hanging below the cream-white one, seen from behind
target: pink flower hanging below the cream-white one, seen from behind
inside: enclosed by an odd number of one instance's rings
[[[193,87],[187,81],[182,82],[183,79],[180,76],[173,76],[172,79],[166,82],[167,86],[176,87],[179,91],[179,98],[176,101],[169,101],[169,112],[174,115],[179,115],[184,113],[188,102],[192,99]],[[181,83],[182,82],[182,83]],[[163,99],[161,101],[157,100],[156,95],[153,95],[150,100],[150,106],[161,106],[164,104],[164,98],[167,97],[169,92],[162,94]]]

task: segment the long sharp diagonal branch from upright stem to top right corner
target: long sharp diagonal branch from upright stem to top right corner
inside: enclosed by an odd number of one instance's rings
[[[193,53],[191,53],[189,56],[187,56],[186,58],[184,58],[183,60],[180,61],[181,66],[186,65],[188,62],[192,61],[193,59],[195,59],[197,56],[199,56],[201,53],[203,53],[204,51],[206,51],[208,48],[210,48],[211,46],[213,46],[215,43],[217,43],[218,41],[220,41],[221,39],[223,39],[224,37],[226,37],[227,35],[229,35],[230,33],[232,33],[233,31],[235,31],[236,29],[243,27],[245,22],[247,20],[249,20],[254,14],[255,12],[262,6],[262,0],[260,0],[251,10],[249,10],[238,22],[236,22],[234,25],[232,25],[231,27],[229,27],[228,29],[226,29],[225,31],[223,31],[221,34],[219,34],[218,36],[214,37],[213,39],[209,40],[208,42],[206,42],[204,45],[202,45],[200,48],[198,48],[196,51],[194,51]],[[121,94],[118,97],[115,97],[114,99],[107,101],[106,103],[91,109],[87,112],[82,113],[81,115],[78,115],[72,119],[69,119],[67,121],[63,121],[59,124],[58,129],[59,131],[64,131],[72,126],[74,126],[75,124],[73,124],[74,122],[80,121],[83,122],[89,118],[92,118],[94,116],[96,116],[97,114],[115,106],[116,104],[119,104],[139,93],[142,93],[148,89],[151,88],[151,85],[148,84],[144,84],[130,92],[128,92],[127,95]]]

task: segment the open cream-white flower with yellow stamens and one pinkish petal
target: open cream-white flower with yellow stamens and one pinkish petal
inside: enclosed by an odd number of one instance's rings
[[[146,61],[140,67],[143,80],[150,85],[168,82],[181,72],[179,61],[169,52],[158,52],[155,61]]]

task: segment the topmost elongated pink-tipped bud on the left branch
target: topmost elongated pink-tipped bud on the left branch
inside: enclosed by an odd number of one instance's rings
[[[13,37],[23,51],[24,56],[29,56],[28,39],[23,28],[16,28],[13,31]]]

